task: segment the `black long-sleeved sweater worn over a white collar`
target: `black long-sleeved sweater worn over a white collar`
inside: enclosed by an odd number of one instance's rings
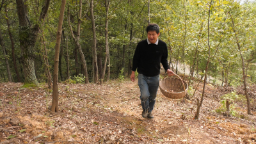
[[[160,63],[165,70],[168,65],[168,49],[165,42],[158,41],[158,45],[149,44],[147,40],[142,40],[138,43],[132,61],[132,71],[143,74],[148,77],[157,76],[160,74]]]

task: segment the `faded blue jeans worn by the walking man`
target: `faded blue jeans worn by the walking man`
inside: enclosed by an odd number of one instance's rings
[[[151,112],[156,102],[156,94],[159,87],[159,75],[147,77],[143,74],[138,76],[140,87],[140,100],[143,110]]]

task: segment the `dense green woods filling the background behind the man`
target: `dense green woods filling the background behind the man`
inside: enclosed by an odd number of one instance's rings
[[[1,82],[37,84],[52,79],[60,2],[1,1]],[[190,75],[201,78],[208,59],[209,3],[67,1],[59,81],[83,74],[85,83],[103,83],[121,70],[125,76],[131,74],[132,55],[136,43],[147,38],[148,22],[161,27],[172,69],[177,72],[177,63],[189,65]],[[209,12],[212,83],[255,82],[255,3],[212,1]]]

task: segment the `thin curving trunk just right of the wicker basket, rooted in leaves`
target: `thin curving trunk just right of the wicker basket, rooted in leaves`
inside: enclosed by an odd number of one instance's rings
[[[205,67],[205,76],[204,76],[204,87],[203,87],[203,92],[202,92],[202,97],[201,97],[201,100],[199,102],[199,100],[197,101],[197,111],[196,111],[196,115],[195,115],[195,119],[198,119],[199,118],[199,113],[200,113],[200,108],[203,104],[203,100],[204,100],[204,93],[205,93],[205,83],[207,81],[207,70],[208,70],[208,65],[209,65],[209,62],[210,62],[210,50],[211,50],[211,46],[209,44],[209,33],[210,33],[210,29],[209,29],[209,24],[210,24],[210,12],[211,12],[211,6],[212,6],[212,0],[211,0],[211,3],[209,5],[209,11],[208,11],[208,38],[207,38],[207,42],[208,42],[208,60],[207,60],[207,63],[206,63],[206,67]]]

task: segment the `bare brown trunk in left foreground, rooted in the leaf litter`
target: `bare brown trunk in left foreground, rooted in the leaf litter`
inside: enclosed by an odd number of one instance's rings
[[[63,17],[65,12],[66,0],[61,0],[60,8],[60,18],[56,36],[56,45],[55,45],[55,56],[54,56],[54,72],[53,72],[53,90],[52,90],[52,107],[51,111],[58,112],[58,64],[59,64],[59,54],[60,54],[60,39],[62,32]]]

